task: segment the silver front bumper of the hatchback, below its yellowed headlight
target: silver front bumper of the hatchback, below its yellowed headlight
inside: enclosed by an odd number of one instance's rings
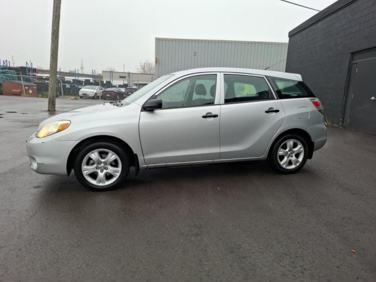
[[[56,141],[53,137],[35,137],[35,133],[26,141],[26,152],[30,167],[36,173],[67,176],[69,153],[79,141]]]

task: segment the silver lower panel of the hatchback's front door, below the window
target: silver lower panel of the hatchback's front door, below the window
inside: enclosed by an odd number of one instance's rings
[[[218,117],[202,117],[208,113]],[[139,132],[145,163],[219,159],[219,115],[219,105],[141,112]]]

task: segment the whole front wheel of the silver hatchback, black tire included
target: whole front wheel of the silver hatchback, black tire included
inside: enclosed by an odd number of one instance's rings
[[[106,158],[113,161],[106,163]],[[74,161],[74,174],[90,190],[109,191],[125,181],[129,166],[129,156],[119,144],[100,141],[80,150]]]

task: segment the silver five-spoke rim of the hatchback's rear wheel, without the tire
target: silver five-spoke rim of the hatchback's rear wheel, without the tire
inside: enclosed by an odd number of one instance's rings
[[[278,149],[279,164],[288,170],[299,167],[304,158],[304,147],[296,139],[286,140]]]

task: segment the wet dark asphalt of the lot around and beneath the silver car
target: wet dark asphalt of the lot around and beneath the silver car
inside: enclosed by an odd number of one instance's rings
[[[96,193],[29,168],[25,141],[46,109],[0,96],[3,279],[376,279],[376,136],[331,127],[293,175],[259,161],[132,169]]]

